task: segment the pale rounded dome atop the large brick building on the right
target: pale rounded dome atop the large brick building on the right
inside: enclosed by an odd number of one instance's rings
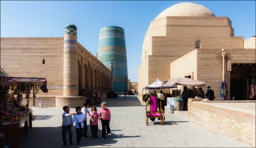
[[[203,5],[182,2],[165,9],[156,19],[165,16],[215,16],[215,14]]]

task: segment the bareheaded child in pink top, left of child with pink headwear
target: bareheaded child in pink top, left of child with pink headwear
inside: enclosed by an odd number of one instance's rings
[[[91,114],[90,114],[90,126],[91,126],[91,132],[92,132],[92,139],[98,138],[98,118],[100,116],[97,113],[96,106],[92,106]]]

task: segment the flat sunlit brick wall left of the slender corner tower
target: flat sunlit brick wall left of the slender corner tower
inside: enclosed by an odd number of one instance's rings
[[[47,85],[59,88],[63,86],[63,38],[1,37],[1,67],[9,76],[46,78]]]

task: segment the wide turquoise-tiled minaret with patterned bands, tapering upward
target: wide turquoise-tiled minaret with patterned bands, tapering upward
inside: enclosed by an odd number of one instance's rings
[[[100,29],[98,60],[110,68],[113,63],[113,89],[128,90],[128,72],[124,29],[119,26],[104,26]]]

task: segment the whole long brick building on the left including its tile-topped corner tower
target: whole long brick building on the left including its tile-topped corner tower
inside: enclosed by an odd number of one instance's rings
[[[49,91],[39,91],[36,105],[75,108],[85,101],[79,90],[112,90],[113,69],[77,42],[75,25],[64,32],[64,38],[1,37],[1,69],[8,76],[46,78]]]

